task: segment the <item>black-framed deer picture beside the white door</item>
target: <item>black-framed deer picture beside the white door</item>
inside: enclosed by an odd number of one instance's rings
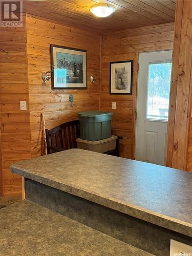
[[[110,94],[132,94],[133,60],[110,62]]]

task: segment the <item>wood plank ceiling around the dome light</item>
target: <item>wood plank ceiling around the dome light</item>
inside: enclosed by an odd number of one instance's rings
[[[110,0],[116,12],[106,18],[90,12],[97,0],[24,1],[24,12],[98,33],[174,22],[176,0]],[[104,2],[106,3],[106,1]]]

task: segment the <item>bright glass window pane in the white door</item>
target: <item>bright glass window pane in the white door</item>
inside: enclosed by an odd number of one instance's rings
[[[172,62],[153,62],[148,67],[146,118],[168,120]]]

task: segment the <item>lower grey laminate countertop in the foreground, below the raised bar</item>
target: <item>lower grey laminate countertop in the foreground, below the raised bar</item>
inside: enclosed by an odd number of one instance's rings
[[[0,210],[0,255],[152,255],[27,200]]]

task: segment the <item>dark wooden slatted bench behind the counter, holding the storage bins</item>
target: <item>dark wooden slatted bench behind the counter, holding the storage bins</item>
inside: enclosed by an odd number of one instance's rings
[[[48,154],[77,148],[76,139],[79,137],[79,120],[62,123],[51,130],[46,129]],[[115,150],[103,154],[119,156],[119,139],[122,139],[122,137],[118,136]]]

